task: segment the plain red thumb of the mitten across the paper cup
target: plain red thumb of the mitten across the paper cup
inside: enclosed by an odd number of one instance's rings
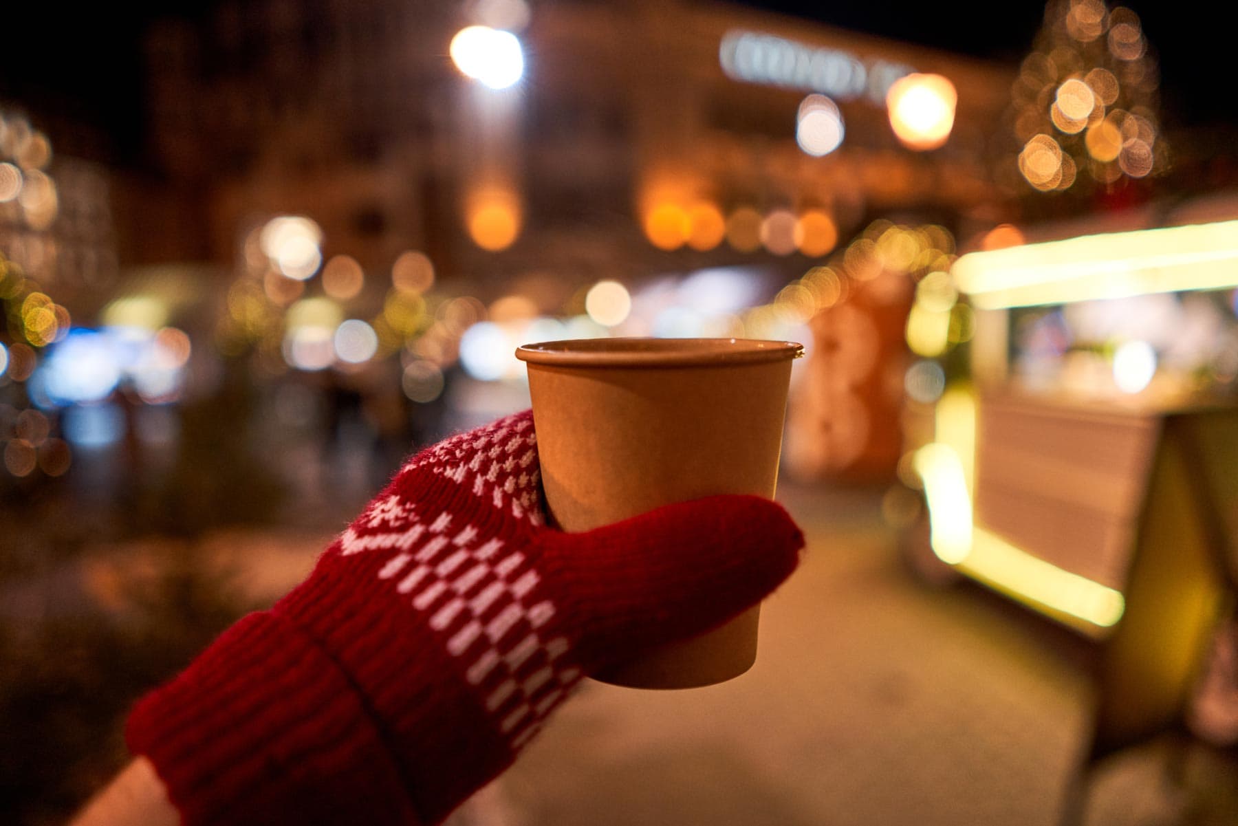
[[[781,505],[717,495],[581,534],[550,534],[586,674],[703,634],[795,570],[803,535]]]

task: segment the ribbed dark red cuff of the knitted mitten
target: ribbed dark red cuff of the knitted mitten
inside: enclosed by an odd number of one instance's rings
[[[187,826],[417,822],[360,695],[270,612],[233,625],[146,696],[126,738]]]

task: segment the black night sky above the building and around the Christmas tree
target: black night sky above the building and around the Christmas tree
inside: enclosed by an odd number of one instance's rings
[[[537,4],[531,0],[535,14]],[[32,102],[31,108],[53,121],[94,126],[72,147],[74,154],[131,163],[139,157],[142,129],[142,31],[157,15],[192,16],[212,2],[10,5],[16,7],[0,17],[0,103]],[[744,5],[1010,63],[1026,54],[1044,16],[1039,0],[749,0]],[[1222,80],[1233,76],[1229,64],[1238,33],[1210,20],[1216,14],[1211,4],[1130,0],[1128,5],[1143,19],[1160,57],[1167,125],[1234,126],[1233,92]]]

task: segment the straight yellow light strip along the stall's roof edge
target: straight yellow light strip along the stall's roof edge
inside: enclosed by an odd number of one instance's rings
[[[1238,220],[969,253],[951,274],[982,310],[1238,286]]]

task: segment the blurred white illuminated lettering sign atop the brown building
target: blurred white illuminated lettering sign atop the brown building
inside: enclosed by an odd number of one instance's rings
[[[904,63],[865,62],[842,50],[739,30],[722,38],[718,59],[737,80],[821,92],[836,100],[867,98],[883,107],[890,85],[915,72]]]

